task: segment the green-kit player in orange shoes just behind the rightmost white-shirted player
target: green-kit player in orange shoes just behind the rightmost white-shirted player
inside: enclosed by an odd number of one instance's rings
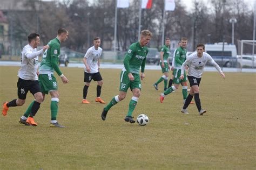
[[[174,64],[174,70],[173,70],[173,83],[174,85],[167,90],[164,91],[164,93],[160,94],[160,103],[163,103],[165,95],[168,95],[172,93],[172,91],[175,91],[179,88],[179,84],[182,85],[182,94],[183,94],[183,103],[185,103],[185,100],[187,98],[187,77],[186,73],[184,73],[184,79],[181,80],[180,74],[181,74],[181,66],[183,62],[186,60],[186,46],[187,46],[187,38],[183,37],[181,38],[181,46],[177,48],[176,54],[175,54],[175,64]]]

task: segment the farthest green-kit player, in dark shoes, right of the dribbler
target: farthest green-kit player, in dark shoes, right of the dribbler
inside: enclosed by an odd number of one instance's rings
[[[154,88],[158,90],[158,84],[164,80],[164,90],[167,89],[167,82],[168,82],[168,76],[169,76],[169,70],[170,70],[170,63],[169,63],[169,55],[170,55],[170,38],[165,39],[165,45],[161,47],[160,52],[160,66],[162,69],[162,73],[164,73],[163,76],[160,77],[160,79],[153,84]]]

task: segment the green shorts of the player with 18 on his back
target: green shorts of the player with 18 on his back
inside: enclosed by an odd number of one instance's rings
[[[58,90],[57,80],[53,74],[39,74],[38,81],[44,94],[48,94],[49,91]]]

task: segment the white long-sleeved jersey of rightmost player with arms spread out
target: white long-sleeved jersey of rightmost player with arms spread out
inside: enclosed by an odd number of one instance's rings
[[[219,65],[212,59],[211,55],[204,52],[203,56],[201,57],[198,57],[197,53],[192,53],[190,56],[188,56],[181,67],[181,74],[184,74],[184,68],[187,65],[189,66],[187,73],[188,76],[201,78],[207,62],[211,63],[218,70],[218,72],[222,73]]]

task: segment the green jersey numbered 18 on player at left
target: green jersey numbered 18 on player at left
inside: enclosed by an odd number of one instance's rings
[[[60,54],[60,41],[55,38],[48,42],[49,48],[45,50],[41,65],[39,67],[39,74],[53,74],[55,71],[61,75],[58,67]]]

